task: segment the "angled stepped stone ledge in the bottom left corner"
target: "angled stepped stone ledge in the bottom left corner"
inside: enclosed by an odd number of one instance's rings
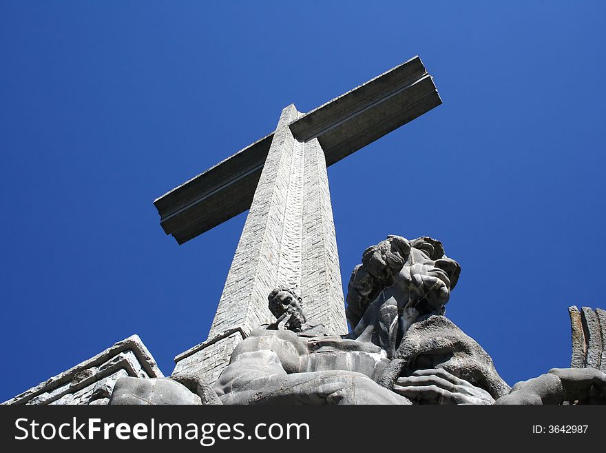
[[[156,361],[137,335],[118,341],[101,354],[53,376],[3,404],[107,404],[116,381],[126,376],[163,377]]]

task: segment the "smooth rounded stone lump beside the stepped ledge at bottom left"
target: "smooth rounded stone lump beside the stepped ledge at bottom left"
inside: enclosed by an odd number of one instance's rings
[[[200,396],[172,379],[123,377],[109,399],[114,405],[201,404]]]

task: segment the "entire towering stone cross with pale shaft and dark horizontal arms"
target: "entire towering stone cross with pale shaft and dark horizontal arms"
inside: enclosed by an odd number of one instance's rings
[[[267,296],[284,285],[306,315],[346,334],[326,167],[441,104],[415,57],[302,114],[154,201],[179,244],[249,209],[207,341],[176,356],[174,373],[218,378],[251,330],[271,321]]]

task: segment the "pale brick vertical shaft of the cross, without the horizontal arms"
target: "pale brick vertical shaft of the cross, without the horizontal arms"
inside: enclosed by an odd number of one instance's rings
[[[333,334],[345,334],[344,297],[324,152],[317,139],[297,141],[284,108],[242,236],[211,325],[209,339],[176,357],[175,372],[213,383],[240,339],[271,321],[267,294],[287,285],[304,292],[304,305]],[[210,343],[210,344],[209,344]]]

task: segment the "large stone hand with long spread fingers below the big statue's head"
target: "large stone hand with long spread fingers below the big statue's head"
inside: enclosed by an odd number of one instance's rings
[[[398,378],[393,391],[418,404],[492,404],[490,393],[442,369]]]

